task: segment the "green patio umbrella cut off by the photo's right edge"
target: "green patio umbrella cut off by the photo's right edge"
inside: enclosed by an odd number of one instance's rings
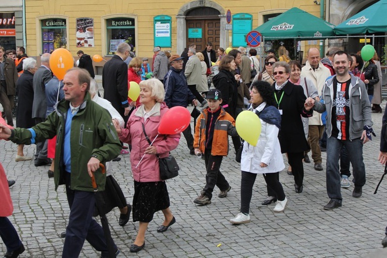
[[[384,17],[386,14],[387,0],[380,0],[338,24],[334,31],[340,35],[387,32],[387,19]]]

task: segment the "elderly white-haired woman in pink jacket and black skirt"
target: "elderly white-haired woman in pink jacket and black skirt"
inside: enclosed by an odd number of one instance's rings
[[[135,185],[133,221],[139,222],[139,232],[130,248],[131,252],[138,252],[144,248],[145,233],[156,211],[161,210],[164,214],[164,221],[157,228],[157,232],[166,231],[176,222],[169,209],[166,183],[160,178],[157,155],[160,158],[168,157],[169,152],[178,146],[180,134],[158,135],[160,120],[168,110],[163,101],[164,87],[159,80],[141,81],[141,104],[137,106],[128,119],[126,128],[120,128],[118,122],[114,121],[119,139],[132,145],[130,157]],[[151,146],[145,134],[150,141],[154,140]],[[144,158],[140,162],[143,156]]]

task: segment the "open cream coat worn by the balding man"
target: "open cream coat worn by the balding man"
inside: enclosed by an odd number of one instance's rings
[[[307,61],[307,63],[305,64],[305,66],[301,70],[301,76],[312,80],[313,84],[317,88],[318,94],[321,95],[321,91],[324,87],[325,81],[331,75],[330,75],[329,69],[327,67],[325,67],[322,64],[322,62],[319,62],[319,67],[317,69],[313,70],[309,61]],[[321,116],[322,116],[322,114],[314,111],[313,117],[309,118],[309,125],[323,125],[323,123],[321,121]]]

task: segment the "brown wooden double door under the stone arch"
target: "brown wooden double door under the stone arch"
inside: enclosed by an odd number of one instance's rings
[[[201,28],[201,38],[189,38],[189,28]],[[195,43],[196,52],[202,52],[207,42],[212,43],[212,49],[217,51],[220,47],[221,21],[217,19],[187,19],[187,47]]]

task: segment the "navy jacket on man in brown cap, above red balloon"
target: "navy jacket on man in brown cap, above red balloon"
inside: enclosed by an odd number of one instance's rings
[[[174,106],[187,107],[188,103],[196,99],[187,85],[187,79],[182,70],[170,67],[164,77],[165,103],[171,108]]]

